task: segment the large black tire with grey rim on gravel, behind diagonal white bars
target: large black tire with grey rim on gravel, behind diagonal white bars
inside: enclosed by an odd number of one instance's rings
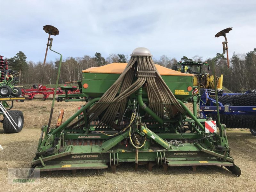
[[[14,127],[12,126],[12,124],[10,123],[9,119],[6,116],[4,116],[4,120],[3,120],[4,131],[6,133],[18,133],[18,132],[20,132],[22,130],[23,124],[24,124],[24,116],[23,116],[22,111],[11,110],[11,111],[8,111],[8,113],[10,114],[10,116],[12,117],[12,119],[14,120],[14,122],[18,126],[16,126],[14,124],[14,126],[16,128],[16,130],[15,130]]]

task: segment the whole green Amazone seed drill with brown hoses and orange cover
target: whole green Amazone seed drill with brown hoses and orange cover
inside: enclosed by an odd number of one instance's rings
[[[49,25],[44,30],[49,33],[47,48],[52,50],[50,36],[59,31]],[[223,42],[221,55],[225,51]],[[61,58],[60,54],[59,72]],[[149,171],[154,165],[164,171],[172,166],[192,166],[194,171],[201,165],[225,166],[240,176],[230,156],[225,126],[219,125],[219,133],[216,126],[207,132],[205,124],[214,124],[212,118],[199,119],[197,111],[184,104],[192,96],[193,77],[154,64],[146,48],[135,49],[128,64],[84,70],[86,103],[65,122],[51,127],[52,101],[49,123],[42,126],[28,175],[34,168],[76,173],[110,166],[115,172],[119,164],[133,162],[135,170],[147,165]]]

